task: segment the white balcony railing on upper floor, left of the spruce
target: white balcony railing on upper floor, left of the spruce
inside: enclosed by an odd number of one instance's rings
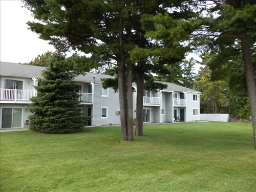
[[[34,90],[0,89],[1,100],[8,101],[29,101],[30,97],[35,96]]]

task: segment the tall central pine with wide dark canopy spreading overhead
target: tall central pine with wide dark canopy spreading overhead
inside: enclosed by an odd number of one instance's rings
[[[152,15],[159,13],[163,15],[169,12],[167,14],[173,15],[173,20],[186,17],[187,15],[181,13],[186,9],[180,9],[182,3],[183,1],[176,0],[26,0],[25,7],[33,12],[36,19],[40,20],[40,23],[28,22],[30,29],[38,33],[40,38],[50,40],[50,44],[62,51],[73,49],[91,54],[89,57],[83,57],[83,65],[78,66],[80,69],[83,69],[85,65],[98,67],[109,63],[117,66],[122,140],[132,141],[133,69],[137,73],[136,79],[139,90],[137,93],[139,102],[137,104],[140,104],[140,108],[137,111],[142,114],[144,73],[150,73],[151,70],[148,69],[152,67],[150,63],[146,62],[147,59],[140,61],[138,59],[140,56],[132,59],[132,51],[136,48],[143,48],[146,51],[154,46],[155,52],[147,53],[146,58],[152,57],[153,61],[156,62],[159,60],[157,58],[159,53],[161,53],[165,56],[165,59],[181,59],[182,56],[180,55],[184,52],[182,46],[177,46],[180,49],[175,49],[175,51],[170,46],[168,49],[167,47],[166,49],[160,49],[163,46],[158,46],[159,44],[155,44],[152,40],[157,38],[145,35],[151,29],[155,30],[157,28],[158,22],[152,18]],[[181,11],[173,11],[170,7]],[[145,17],[142,18],[143,16]],[[174,27],[176,28],[176,25]],[[182,28],[181,25],[180,27]],[[182,30],[182,32],[185,33],[185,30]],[[180,40],[182,38],[177,36],[176,42]],[[168,42],[168,39],[166,42]],[[179,56],[176,56],[178,53]],[[139,54],[144,58],[144,52]],[[154,57],[154,54],[157,54],[157,56]],[[161,68],[153,69],[153,72],[159,69]],[[142,117],[141,114],[137,114],[137,116]],[[142,118],[140,123],[142,123]],[[140,126],[141,128],[142,126]]]

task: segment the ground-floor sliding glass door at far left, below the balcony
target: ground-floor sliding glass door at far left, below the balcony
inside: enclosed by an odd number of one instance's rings
[[[2,108],[2,128],[22,127],[22,108]]]

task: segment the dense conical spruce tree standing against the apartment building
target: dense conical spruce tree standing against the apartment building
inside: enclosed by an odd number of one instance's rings
[[[40,133],[73,133],[81,131],[90,117],[82,115],[83,104],[75,93],[74,73],[63,69],[65,57],[53,54],[38,78],[37,96],[29,104],[30,129]],[[60,64],[61,63],[61,64]]]

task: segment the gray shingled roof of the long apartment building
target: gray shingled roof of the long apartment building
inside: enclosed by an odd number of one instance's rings
[[[45,70],[45,67],[40,66],[31,66],[31,65],[24,65],[19,63],[11,63],[11,62],[0,62],[0,75],[1,76],[11,76],[11,77],[27,77],[27,78],[42,78],[41,71]],[[87,82],[91,83],[94,81],[93,77],[95,77],[95,83],[101,83],[101,78],[113,78],[110,75],[105,74],[97,74],[97,73],[89,73],[86,72],[86,75],[79,75],[75,77],[75,81],[77,82]],[[157,81],[160,82],[160,81]],[[177,92],[191,92],[191,93],[200,93],[199,91],[185,88],[182,86],[178,86],[177,84],[170,83],[170,82],[161,82],[163,84],[167,84],[167,88],[162,91],[177,91]],[[133,86],[136,87],[136,84],[133,83]]]

